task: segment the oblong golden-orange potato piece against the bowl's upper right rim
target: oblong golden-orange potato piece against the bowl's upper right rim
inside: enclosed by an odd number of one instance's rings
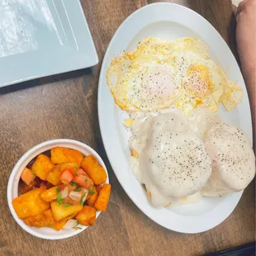
[[[97,163],[97,159],[95,159],[92,154],[89,154],[83,159],[81,167],[88,173],[88,176],[92,178],[95,185],[106,182],[107,173],[105,169]]]

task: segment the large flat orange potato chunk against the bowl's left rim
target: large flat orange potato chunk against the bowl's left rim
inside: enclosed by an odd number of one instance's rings
[[[40,193],[43,191],[42,188],[36,188],[12,200],[12,206],[19,218],[36,216],[50,208],[50,203],[40,198]]]

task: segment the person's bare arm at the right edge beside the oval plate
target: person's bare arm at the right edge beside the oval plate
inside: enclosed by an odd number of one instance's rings
[[[236,44],[244,82],[249,94],[254,132],[256,114],[256,0],[240,2],[237,10]],[[254,138],[255,139],[255,138]]]

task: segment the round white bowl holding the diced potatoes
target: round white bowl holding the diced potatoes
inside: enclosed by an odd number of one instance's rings
[[[22,170],[26,167],[27,164],[31,162],[32,159],[36,158],[38,154],[41,154],[57,146],[66,147],[69,149],[77,149],[84,155],[92,154],[97,159],[98,163],[101,164],[102,167],[105,168],[107,172],[107,168],[103,163],[101,157],[97,154],[97,152],[94,151],[92,148],[90,148],[88,145],[85,145],[82,142],[79,142],[77,140],[65,140],[65,139],[48,140],[41,143],[40,145],[36,145],[35,147],[28,150],[25,154],[22,155],[21,159],[18,160],[17,164],[13,168],[11,176],[9,178],[9,182],[7,186],[8,205],[9,205],[10,211],[12,212],[13,218],[17,221],[17,224],[20,225],[23,230],[26,230],[26,232],[30,233],[31,235],[40,237],[42,239],[64,239],[64,238],[71,237],[73,235],[78,235],[80,232],[87,229],[87,226],[84,226],[84,225],[79,225],[82,228],[81,230],[59,230],[59,231],[53,230],[51,228],[39,229],[36,227],[31,227],[29,225],[26,225],[26,223],[17,216],[17,213],[13,209],[12,200],[18,197],[18,184],[19,184]],[[107,183],[109,183],[108,173],[107,173]],[[96,218],[100,215],[100,213],[101,213],[100,211],[97,211]]]

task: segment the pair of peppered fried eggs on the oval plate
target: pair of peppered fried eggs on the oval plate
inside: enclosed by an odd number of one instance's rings
[[[197,39],[146,38],[135,52],[111,61],[107,84],[116,104],[126,111],[156,111],[174,103],[186,114],[198,106],[227,110],[243,97]]]

